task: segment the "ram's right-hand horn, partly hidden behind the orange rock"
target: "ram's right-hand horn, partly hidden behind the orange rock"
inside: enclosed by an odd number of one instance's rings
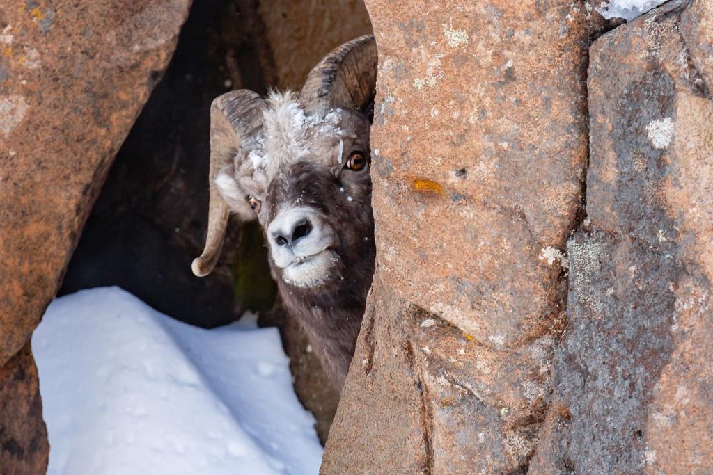
[[[374,100],[377,66],[374,35],[359,36],[314,66],[299,102],[312,113],[333,108],[364,110]]]

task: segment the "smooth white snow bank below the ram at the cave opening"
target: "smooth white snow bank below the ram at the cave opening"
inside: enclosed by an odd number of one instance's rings
[[[317,474],[275,328],[203,330],[119,288],[58,298],[32,337],[51,475]]]

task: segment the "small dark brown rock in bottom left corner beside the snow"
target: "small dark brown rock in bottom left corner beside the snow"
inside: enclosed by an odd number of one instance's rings
[[[44,474],[48,454],[37,370],[28,342],[0,367],[0,472]]]

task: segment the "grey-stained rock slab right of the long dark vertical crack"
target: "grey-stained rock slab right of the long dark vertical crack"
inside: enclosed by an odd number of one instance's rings
[[[591,51],[588,220],[535,474],[713,471],[713,41],[672,2]]]

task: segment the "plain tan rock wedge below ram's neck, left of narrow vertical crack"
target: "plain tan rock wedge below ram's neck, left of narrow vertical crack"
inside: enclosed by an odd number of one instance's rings
[[[404,320],[414,312],[377,273],[354,360],[324,451],[321,474],[421,474],[428,470],[423,384]],[[417,309],[416,309],[417,310]]]

